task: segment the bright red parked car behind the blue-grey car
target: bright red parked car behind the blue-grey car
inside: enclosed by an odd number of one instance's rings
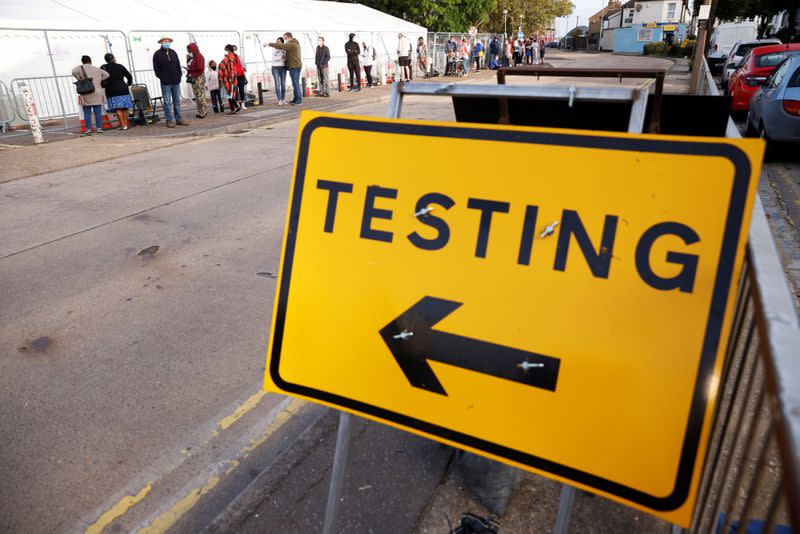
[[[732,111],[749,110],[750,97],[767,76],[772,74],[781,61],[798,54],[800,54],[800,43],[759,46],[750,50],[728,81]]]

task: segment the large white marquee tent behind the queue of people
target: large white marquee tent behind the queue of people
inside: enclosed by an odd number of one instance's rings
[[[422,26],[361,4],[316,0],[0,0],[0,82],[13,91],[14,80],[27,79],[39,94],[37,105],[45,117],[60,115],[63,101],[68,112],[77,112],[70,71],[84,54],[100,65],[103,55],[113,52],[137,82],[160,94],[151,70],[162,35],[175,40],[179,55],[195,41],[206,60],[221,59],[224,46],[235,44],[251,79],[267,81],[271,49],[262,45],[285,31],[300,41],[303,73],[308,69],[312,76],[317,37],[325,37],[334,79],[345,65],[350,32],[359,43],[374,46],[376,70],[396,60],[399,32],[414,40],[427,33]]]

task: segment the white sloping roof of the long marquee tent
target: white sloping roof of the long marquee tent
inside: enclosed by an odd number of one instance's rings
[[[0,28],[139,31],[372,31],[424,27],[361,4],[271,0],[229,10],[219,0],[2,0]]]

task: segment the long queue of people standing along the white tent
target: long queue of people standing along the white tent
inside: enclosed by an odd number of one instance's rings
[[[225,45],[222,59],[219,62],[214,59],[206,62],[199,45],[195,42],[189,43],[186,47],[186,66],[184,67],[181,65],[178,54],[172,48],[172,43],[171,37],[162,37],[158,40],[159,48],[153,53],[153,71],[161,85],[167,128],[188,125],[181,110],[180,88],[184,81],[192,87],[197,109],[195,117],[198,119],[208,116],[207,91],[211,97],[211,109],[214,113],[225,113],[226,107],[231,115],[246,109],[247,68],[237,54],[236,45]],[[303,105],[304,95],[300,84],[303,66],[300,42],[291,32],[286,32],[274,42],[264,46],[272,48],[271,69],[278,106]],[[495,68],[496,65],[499,65],[501,55],[503,55],[503,64],[508,64],[506,59],[514,61],[514,64],[523,60],[529,62],[533,57],[538,57],[534,56],[534,47],[544,50],[544,47],[539,47],[535,40],[520,41],[519,43],[509,40],[503,49],[498,39],[494,38],[488,49],[489,67]],[[506,58],[506,52],[509,50],[514,50],[514,53],[508,54]],[[460,42],[451,37],[446,44],[445,51],[447,55],[445,75],[466,75],[469,71],[470,61],[475,71],[480,71],[487,52],[480,40],[471,44],[466,37],[462,38]],[[399,33],[397,44],[398,81],[413,79],[415,52],[418,72],[427,74],[430,70],[430,57],[425,39],[419,37],[415,47],[408,36]],[[344,55],[349,74],[348,91],[359,92],[362,90],[362,67],[366,78],[365,87],[376,85],[372,69],[378,60],[378,53],[372,45],[365,41],[361,41],[359,44],[356,34],[351,33],[344,45]],[[517,56],[523,59],[519,59]],[[314,64],[319,80],[316,93],[321,97],[330,96],[331,57],[331,51],[325,43],[325,38],[318,37]],[[133,77],[124,65],[117,62],[113,54],[106,54],[105,61],[106,63],[102,67],[97,68],[92,65],[89,56],[83,56],[81,65],[72,70],[72,75],[77,80],[76,86],[81,84],[84,89],[83,92],[79,89],[78,93],[86,124],[85,135],[103,131],[101,116],[104,101],[108,111],[116,114],[120,129],[127,130],[129,127],[129,113],[133,109],[129,88],[133,84]],[[289,102],[286,100],[287,74],[292,86],[292,100]],[[105,98],[103,98],[104,94]],[[92,125],[92,117],[94,117],[94,125]]]

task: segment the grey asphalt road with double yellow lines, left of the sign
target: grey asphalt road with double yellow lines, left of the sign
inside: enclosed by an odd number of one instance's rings
[[[0,184],[0,531],[164,531],[258,473],[239,466],[303,409],[259,393],[296,130]]]

